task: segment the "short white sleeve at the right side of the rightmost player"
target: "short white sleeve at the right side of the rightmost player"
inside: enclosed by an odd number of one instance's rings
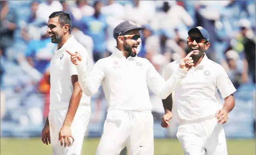
[[[222,66],[219,67],[217,74],[217,88],[223,99],[236,92],[236,88]]]

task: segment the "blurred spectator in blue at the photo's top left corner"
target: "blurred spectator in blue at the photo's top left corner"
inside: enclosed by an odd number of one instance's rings
[[[2,55],[7,56],[6,51],[14,43],[14,32],[17,28],[18,16],[16,11],[9,7],[8,1],[0,1],[0,46]]]

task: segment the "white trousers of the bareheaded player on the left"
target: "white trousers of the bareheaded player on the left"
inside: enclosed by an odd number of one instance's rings
[[[63,125],[64,119],[66,118],[67,112],[68,109],[50,110],[48,115],[53,155],[81,155],[84,134],[90,119],[91,107],[78,107],[74,120],[71,124],[74,143],[72,143],[70,147],[64,147],[64,145],[61,146],[60,141],[57,142],[59,138],[59,131]]]

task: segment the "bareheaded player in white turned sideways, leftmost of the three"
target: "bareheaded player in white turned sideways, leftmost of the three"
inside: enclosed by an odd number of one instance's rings
[[[58,49],[49,66],[50,111],[42,131],[42,141],[46,145],[51,143],[53,155],[81,154],[91,113],[90,97],[82,93],[76,67],[70,62],[66,50],[80,51],[85,58],[88,58],[88,53],[70,31],[69,14],[53,12],[49,16],[47,32]]]

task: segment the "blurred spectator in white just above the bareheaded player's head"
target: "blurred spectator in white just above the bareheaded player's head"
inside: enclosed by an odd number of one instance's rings
[[[45,0],[39,4],[36,14],[47,23],[51,13],[62,10],[62,5],[58,0]]]

